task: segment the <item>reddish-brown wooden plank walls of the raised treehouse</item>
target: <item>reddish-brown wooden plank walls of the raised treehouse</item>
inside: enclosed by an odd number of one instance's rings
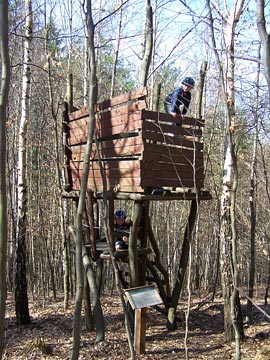
[[[204,121],[186,118],[182,126],[176,126],[170,115],[146,110],[146,95],[143,88],[97,105],[89,189],[103,190],[102,174],[107,189],[115,191],[203,187]],[[73,190],[80,189],[88,122],[87,108],[69,116]]]

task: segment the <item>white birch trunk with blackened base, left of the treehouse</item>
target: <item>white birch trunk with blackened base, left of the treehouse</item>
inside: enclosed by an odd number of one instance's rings
[[[25,40],[24,61],[22,75],[22,103],[21,119],[19,126],[19,149],[18,149],[18,224],[17,224],[17,251],[16,251],[16,276],[15,276],[15,307],[16,318],[19,324],[30,323],[27,295],[26,276],[26,231],[27,231],[27,128],[29,124],[30,102],[30,63],[31,42],[33,36],[33,13],[32,1],[25,1]]]

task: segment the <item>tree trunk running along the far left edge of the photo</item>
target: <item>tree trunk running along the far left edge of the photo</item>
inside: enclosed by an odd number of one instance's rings
[[[0,359],[2,359],[5,332],[7,273],[6,111],[10,81],[7,0],[0,2],[0,59]]]

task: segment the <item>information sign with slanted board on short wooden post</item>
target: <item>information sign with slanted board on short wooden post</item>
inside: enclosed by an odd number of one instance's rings
[[[136,354],[141,355],[145,352],[147,307],[162,304],[162,299],[154,285],[127,289],[125,294],[135,310],[134,348]]]

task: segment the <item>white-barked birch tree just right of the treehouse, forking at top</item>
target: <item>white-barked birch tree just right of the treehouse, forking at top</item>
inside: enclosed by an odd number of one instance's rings
[[[226,135],[224,148],[223,182],[221,194],[221,276],[224,297],[224,331],[226,341],[235,338],[236,359],[240,358],[240,338],[243,332],[241,306],[238,291],[237,233],[235,227],[236,189],[238,169],[233,135],[236,129],[235,88],[234,88],[234,43],[236,25],[244,8],[244,0],[236,0],[230,12],[223,13],[215,2],[208,0],[213,47],[219,63],[221,86],[225,106]],[[224,24],[226,47],[225,65],[220,59],[215,43],[212,6]],[[233,331],[234,330],[234,331]]]

